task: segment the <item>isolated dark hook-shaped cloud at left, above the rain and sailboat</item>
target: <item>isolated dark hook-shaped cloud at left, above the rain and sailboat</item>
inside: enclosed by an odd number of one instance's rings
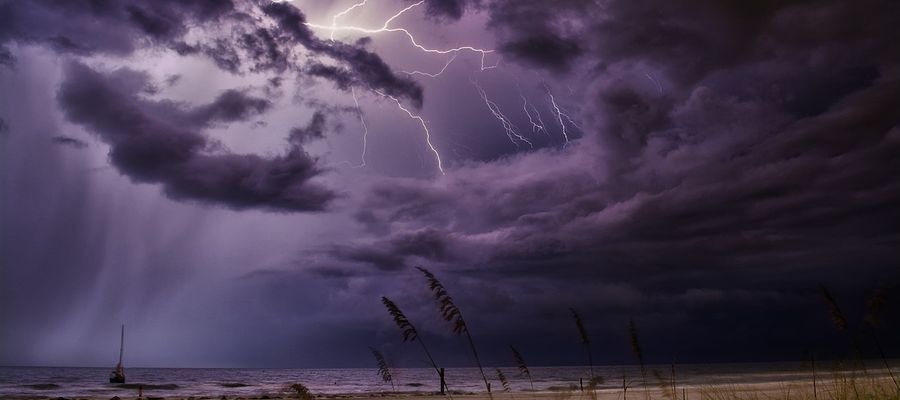
[[[128,69],[102,74],[70,63],[59,103],[70,121],[110,145],[110,161],[138,182],[161,183],[176,199],[234,209],[323,209],[334,195],[312,179],[321,171],[298,145],[283,155],[216,152],[199,129],[265,111],[268,102],[227,91],[212,103],[183,109],[137,96],[146,75]]]

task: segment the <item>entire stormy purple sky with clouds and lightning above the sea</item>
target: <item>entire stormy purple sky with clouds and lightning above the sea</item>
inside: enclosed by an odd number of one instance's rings
[[[471,365],[418,265],[488,365],[840,356],[900,283],[900,3],[355,3],[0,0],[0,365],[425,366],[383,295]]]

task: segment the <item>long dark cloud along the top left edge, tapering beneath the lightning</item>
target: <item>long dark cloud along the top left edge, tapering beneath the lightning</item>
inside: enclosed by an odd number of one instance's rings
[[[297,70],[305,58],[325,56],[343,66],[343,75],[315,74],[330,79],[349,76],[353,85],[407,98],[416,107],[423,101],[422,89],[406,76],[395,74],[377,54],[363,48],[323,41],[305,25],[306,17],[289,3],[232,1],[16,1],[0,3],[0,45],[11,41],[43,44],[61,53],[130,55],[144,47],[170,48],[180,55],[202,55],[219,68],[239,74],[244,71],[285,73]],[[247,14],[249,12],[250,14]],[[260,12],[275,22],[263,26],[251,14]],[[188,40],[190,27],[204,30]],[[210,29],[206,29],[210,28]],[[223,29],[224,28],[224,29]],[[110,35],[109,32],[116,32]],[[0,62],[11,65],[12,54],[0,47]],[[301,50],[308,53],[304,55]],[[302,73],[302,70],[299,71]],[[345,80],[337,82],[348,88]]]

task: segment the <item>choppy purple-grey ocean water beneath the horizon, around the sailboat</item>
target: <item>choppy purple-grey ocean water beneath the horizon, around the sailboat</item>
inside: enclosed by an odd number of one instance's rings
[[[870,363],[870,368],[874,367]],[[898,363],[892,362],[892,368]],[[819,379],[829,379],[830,364],[819,367]],[[531,383],[514,367],[501,368],[514,392],[531,390]],[[671,366],[647,367],[649,384],[670,379]],[[379,392],[436,392],[439,381],[433,369],[393,369],[394,386],[383,382],[374,368],[337,369],[227,369],[227,368],[127,368],[127,384],[108,383],[110,368],[0,367],[0,397],[136,397],[138,385],[145,397],[272,397],[284,393],[293,383],[306,385],[313,394],[367,395]],[[885,371],[870,369],[869,374]],[[496,369],[485,369],[494,391],[502,390]],[[631,387],[640,386],[636,366],[595,366],[594,374],[605,378],[601,389],[622,386],[623,376]],[[588,367],[532,367],[537,391],[575,390],[590,376]],[[795,363],[689,364],[675,367],[675,379],[681,386],[750,384],[808,380],[808,365]],[[476,368],[447,368],[446,380],[453,392],[483,392],[484,383]]]

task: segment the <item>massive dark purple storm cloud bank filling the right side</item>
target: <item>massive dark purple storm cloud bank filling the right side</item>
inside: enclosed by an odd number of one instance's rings
[[[534,280],[536,293],[576,293],[535,299],[538,309],[587,303],[622,326],[636,315],[683,332],[693,354],[708,351],[701,332],[721,332],[712,347],[747,343],[748,358],[783,357],[827,329],[818,282],[858,300],[900,281],[895,2],[545,6],[491,3],[492,27],[509,48],[577,42],[509,54],[563,76],[589,71],[589,134],[437,182],[377,182],[356,214],[372,237],[333,257],[501,286]],[[466,294],[491,312],[477,289]],[[764,329],[728,333],[746,324]]]

